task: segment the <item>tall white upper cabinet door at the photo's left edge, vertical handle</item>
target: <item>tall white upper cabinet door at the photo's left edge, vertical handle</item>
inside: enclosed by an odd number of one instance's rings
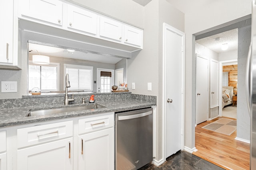
[[[0,63],[12,63],[13,0],[0,2]]]

